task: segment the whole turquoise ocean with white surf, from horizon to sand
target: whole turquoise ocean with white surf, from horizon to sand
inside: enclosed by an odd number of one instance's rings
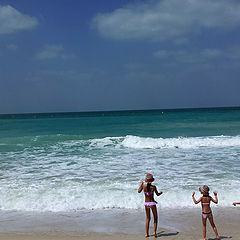
[[[1,213],[191,209],[199,186],[240,201],[240,108],[0,115]]]

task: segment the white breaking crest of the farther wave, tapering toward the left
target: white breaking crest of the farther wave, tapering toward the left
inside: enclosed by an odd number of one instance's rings
[[[105,137],[88,140],[72,140],[66,146],[86,146],[89,148],[125,147],[134,149],[158,148],[201,148],[201,147],[239,147],[240,136],[208,136],[208,137],[177,137],[152,138],[127,135],[123,137]]]

